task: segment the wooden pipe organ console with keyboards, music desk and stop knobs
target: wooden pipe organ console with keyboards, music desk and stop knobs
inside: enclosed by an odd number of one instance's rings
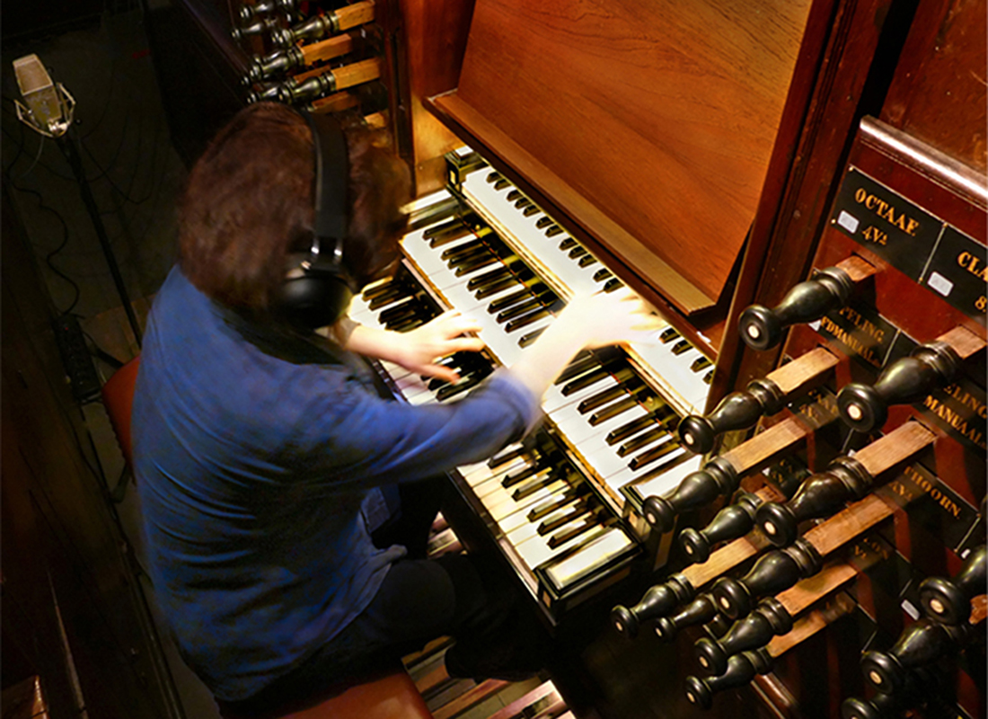
[[[661,318],[452,477],[575,713],[984,716],[984,2],[172,5],[208,41],[177,72],[222,85],[173,134],[273,100],[408,160],[403,261],[351,315],[456,309],[486,348],[453,385],[376,363],[398,401],[455,402],[577,293]]]

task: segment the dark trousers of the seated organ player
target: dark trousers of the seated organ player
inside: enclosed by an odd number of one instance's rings
[[[429,641],[456,638],[460,664],[470,666],[504,643],[517,624],[514,593],[468,555],[425,559],[429,529],[448,480],[402,486],[401,516],[374,534],[380,547],[404,544],[371,604],[312,657],[253,697],[222,702],[224,715],[271,716],[297,710],[399,666]]]

